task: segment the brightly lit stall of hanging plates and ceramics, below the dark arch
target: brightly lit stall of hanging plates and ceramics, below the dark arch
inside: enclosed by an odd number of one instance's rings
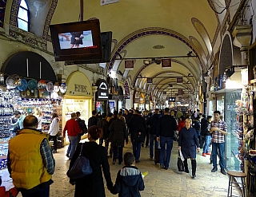
[[[0,168],[6,167],[8,141],[13,137],[12,120],[14,111],[23,115],[38,115],[42,112],[42,132],[48,132],[52,112],[57,112],[60,117],[62,131],[62,93],[66,92],[66,84],[53,84],[44,80],[26,80],[11,75],[6,77],[5,84],[0,85]],[[58,148],[62,147],[62,140]]]

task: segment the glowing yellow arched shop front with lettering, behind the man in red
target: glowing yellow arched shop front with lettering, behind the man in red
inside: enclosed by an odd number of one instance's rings
[[[66,81],[67,90],[63,97],[62,127],[70,120],[72,112],[80,112],[80,118],[88,123],[92,112],[93,93],[90,81],[84,73],[71,73]],[[66,135],[67,136],[67,135]],[[68,142],[66,138],[66,142]]]

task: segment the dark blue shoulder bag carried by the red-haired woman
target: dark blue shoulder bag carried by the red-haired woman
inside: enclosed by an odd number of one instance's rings
[[[93,172],[90,167],[90,160],[82,155],[82,147],[83,144],[81,144],[80,154],[77,160],[75,160],[74,165],[66,172],[66,175],[70,179],[79,179],[86,175],[90,175]]]

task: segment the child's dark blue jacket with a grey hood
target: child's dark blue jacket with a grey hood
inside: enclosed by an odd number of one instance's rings
[[[139,197],[139,191],[145,188],[142,173],[135,166],[122,167],[118,171],[114,187],[119,197]]]

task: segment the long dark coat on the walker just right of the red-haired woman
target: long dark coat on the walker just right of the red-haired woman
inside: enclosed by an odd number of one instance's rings
[[[120,119],[114,120],[114,122],[110,124],[109,130],[113,132],[109,139],[111,146],[124,147],[125,140],[128,142],[126,124]]]

